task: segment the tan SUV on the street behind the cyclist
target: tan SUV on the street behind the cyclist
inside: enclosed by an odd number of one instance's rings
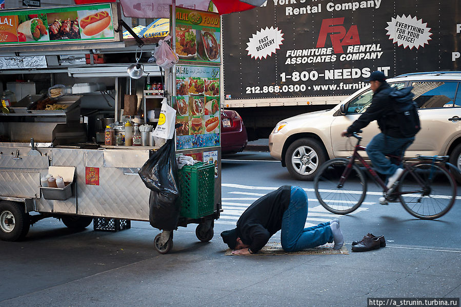
[[[461,169],[461,72],[411,73],[388,79],[393,86],[413,86],[421,130],[406,157],[449,155]],[[355,144],[342,138],[345,130],[371,103],[370,87],[360,89],[331,110],[317,111],[279,122],[269,137],[271,156],[282,161],[298,180],[312,180],[325,161],[350,156]],[[366,145],[379,133],[376,121],[363,129]],[[360,152],[366,157],[366,152]],[[459,179],[459,178],[457,178]]]

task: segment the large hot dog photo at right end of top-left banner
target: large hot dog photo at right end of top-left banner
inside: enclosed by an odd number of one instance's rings
[[[78,11],[82,39],[111,39],[114,27],[109,9]]]

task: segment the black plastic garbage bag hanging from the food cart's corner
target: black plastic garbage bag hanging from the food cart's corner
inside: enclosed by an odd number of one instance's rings
[[[173,140],[168,140],[138,171],[151,190],[149,222],[152,227],[172,231],[179,218],[179,184]]]

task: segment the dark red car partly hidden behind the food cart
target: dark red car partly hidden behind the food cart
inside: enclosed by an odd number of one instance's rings
[[[221,112],[221,152],[235,154],[247,146],[247,129],[237,112],[223,110]]]

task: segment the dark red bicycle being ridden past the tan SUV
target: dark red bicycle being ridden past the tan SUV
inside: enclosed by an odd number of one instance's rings
[[[395,202],[398,198],[408,213],[426,220],[442,217],[451,209],[456,199],[456,182],[445,165],[457,171],[458,169],[447,162],[448,156],[417,156],[412,158],[418,160],[417,162],[408,162],[402,161],[401,157],[386,155],[404,165],[404,171],[397,181],[391,188],[387,188],[383,180],[358,153],[359,150],[366,149],[360,145],[362,137],[357,133],[351,136],[357,139],[352,156],[348,159],[337,158],[325,162],[314,178],[315,195],[329,212],[348,214],[356,210],[365,200],[367,181],[364,171],[356,164],[357,160],[383,188],[380,203]],[[434,185],[436,176],[445,177],[449,182],[448,187],[440,188]],[[361,190],[350,190],[349,184],[356,186],[357,180]],[[446,191],[448,193],[445,193]]]

